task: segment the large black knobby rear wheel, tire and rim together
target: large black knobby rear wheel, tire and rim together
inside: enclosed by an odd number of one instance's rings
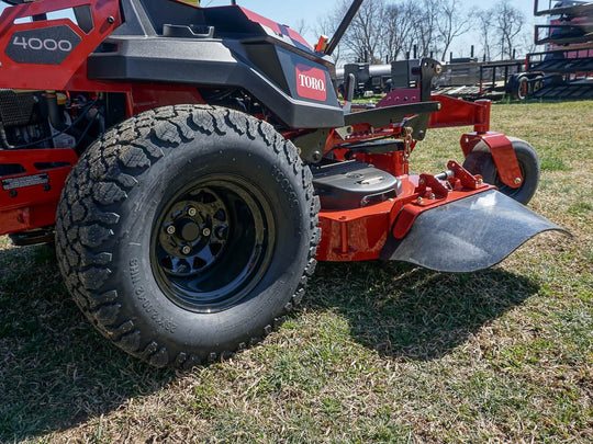
[[[56,217],[59,265],[104,335],[188,368],[258,342],[300,301],[318,209],[311,171],[271,125],[163,107],[80,158]]]

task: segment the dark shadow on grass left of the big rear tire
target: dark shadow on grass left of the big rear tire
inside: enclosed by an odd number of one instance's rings
[[[94,331],[47,247],[0,251],[0,442],[68,429],[175,378]]]

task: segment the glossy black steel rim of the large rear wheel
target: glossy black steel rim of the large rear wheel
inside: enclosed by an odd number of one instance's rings
[[[198,312],[228,309],[269,266],[276,226],[261,191],[216,174],[183,187],[163,205],[152,232],[150,263],[165,295]]]

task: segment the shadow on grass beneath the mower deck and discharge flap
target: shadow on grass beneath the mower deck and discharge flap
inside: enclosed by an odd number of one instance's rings
[[[430,361],[538,289],[500,269],[443,274],[396,262],[321,263],[307,308],[346,317],[353,338],[382,356]]]

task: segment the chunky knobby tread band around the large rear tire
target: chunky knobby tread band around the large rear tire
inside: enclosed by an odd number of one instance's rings
[[[311,171],[302,163],[296,148],[271,125],[239,112],[209,105],[166,106],[143,113],[110,129],[89,148],[68,178],[58,206],[56,250],[61,274],[75,301],[120,349],[157,367],[189,369],[203,361],[184,351],[170,355],[156,338],[152,338],[153,332],[143,331],[134,319],[125,317],[120,304],[122,296],[115,288],[105,287],[112,274],[110,266],[113,257],[102,248],[112,241],[112,227],[121,219],[116,204],[126,200],[128,192],[138,183],[135,175],[160,161],[169,149],[175,149],[182,140],[194,138],[195,133],[222,136],[227,130],[250,139],[262,138],[295,177],[301,178],[303,192],[310,203],[312,236],[303,278],[283,312],[278,314],[273,322],[265,326],[257,335],[248,339],[248,344],[254,345],[278,329],[286,315],[302,300],[307,277],[315,269],[314,258],[321,237],[317,227],[320,202],[313,192]],[[145,136],[148,137],[139,144],[138,137]],[[239,342],[233,351],[209,352],[206,361],[212,363],[226,358],[245,346],[245,342]]]

